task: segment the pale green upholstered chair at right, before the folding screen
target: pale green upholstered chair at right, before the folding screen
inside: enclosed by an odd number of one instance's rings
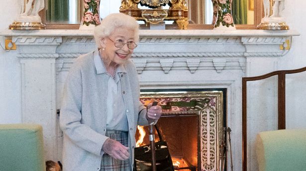
[[[283,129],[257,134],[259,171],[306,171],[306,129]]]

